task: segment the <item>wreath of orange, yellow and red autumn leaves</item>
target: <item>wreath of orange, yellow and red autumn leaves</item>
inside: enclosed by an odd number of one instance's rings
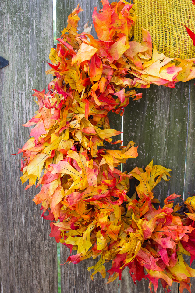
[[[167,180],[170,169],[151,162],[145,171],[136,167],[129,174],[121,172],[120,164],[138,156],[137,147],[133,141],[127,146],[113,142],[111,137],[121,132],[110,128],[108,113],[122,115],[129,98],[141,98],[130,88],[174,87],[194,78],[194,60],[173,63],[158,54],[144,28],[143,42],[132,41],[134,4],[108,0],[102,4],[99,13],[97,7],[93,12],[98,39],[87,24],[78,34],[82,11],[78,5],[57,49],[51,49],[47,74],[55,78],[46,94],[34,90],[39,109],[24,125],[35,126],[19,149],[21,180],[29,180],[27,189],[38,178],[41,191],[33,201],[41,204],[42,217],[50,221],[50,236],[70,251],[77,250],[68,262],[100,257],[88,268],[94,270],[92,280],[97,272],[105,278],[104,263],[111,260],[108,282],[121,279],[128,267],[134,283],[149,279],[151,292],[156,292],[158,279],[167,292],[173,282],[180,283],[180,292],[184,288],[190,292],[195,270],[183,255],[190,255],[191,262],[195,259],[195,196],[183,204],[187,213],[179,204],[173,206],[176,194],[168,196],[162,208],[154,208],[158,201],[152,189],[161,179]],[[119,150],[105,149],[105,141],[119,144]],[[129,197],[133,177],[139,183]]]

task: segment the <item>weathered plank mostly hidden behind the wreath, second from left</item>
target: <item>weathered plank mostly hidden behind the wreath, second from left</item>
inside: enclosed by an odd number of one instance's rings
[[[88,25],[92,23],[92,13],[95,6],[98,6],[98,9],[101,7],[101,2],[99,0],[91,1],[80,1],[80,6],[84,10],[79,14],[80,22],[78,29],[83,31],[84,24],[89,21]],[[72,10],[78,5],[77,1],[56,1],[56,34],[57,38],[61,36],[59,33],[67,26],[68,15]],[[94,27],[92,26],[92,32],[95,36]],[[110,127],[120,130],[121,129],[121,118],[115,114],[110,114]],[[120,136],[115,136],[114,141],[120,139]],[[112,147],[110,144],[105,145],[106,147]],[[66,259],[69,256],[69,250],[61,245],[61,263],[66,262]],[[103,280],[99,274],[94,276],[94,281],[90,279],[91,272],[87,271],[87,267],[95,264],[97,260],[87,259],[79,263],[78,265],[65,264],[61,266],[61,291],[70,292],[70,293],[116,293],[118,292],[118,281],[115,281],[111,284],[106,284],[107,280]],[[110,264],[106,264],[106,270],[110,268]]]

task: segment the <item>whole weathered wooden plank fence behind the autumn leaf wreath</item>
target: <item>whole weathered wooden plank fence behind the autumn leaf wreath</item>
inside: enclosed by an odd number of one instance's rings
[[[80,1],[84,9],[80,16],[82,25],[87,20],[91,23],[92,10],[99,4],[96,0]],[[57,0],[57,37],[76,5],[75,0]],[[31,88],[47,89],[51,80],[45,70],[53,46],[52,0],[1,1],[0,19],[0,56],[9,60],[9,65],[0,69],[1,293],[56,293],[57,245],[55,239],[49,237],[49,223],[39,216],[40,207],[32,201],[37,191],[35,188],[24,191],[19,180],[19,155],[12,156],[28,139],[29,129],[21,124],[30,119],[36,109],[30,97]],[[172,179],[155,188],[155,196],[163,200],[176,192],[186,198],[188,192],[194,193],[193,81],[179,83],[175,89],[151,86],[142,92],[143,98],[130,101],[125,110],[124,144],[129,140],[137,142],[139,157],[129,160],[124,168],[130,171],[154,159],[155,164],[173,170]],[[113,128],[120,130],[119,117],[110,118]],[[61,263],[66,261],[68,253],[66,247],[61,246]],[[106,284],[99,275],[93,282],[87,271],[92,264],[93,260],[88,259],[78,265],[61,266],[61,292],[149,292],[148,282],[138,282],[136,287],[128,270],[123,273],[119,287],[118,281]],[[159,286],[158,293],[162,292]],[[171,293],[178,293],[178,284],[172,286]]]

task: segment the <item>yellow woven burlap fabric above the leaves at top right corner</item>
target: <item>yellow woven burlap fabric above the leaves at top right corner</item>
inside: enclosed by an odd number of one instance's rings
[[[195,32],[195,5],[191,0],[135,0],[135,40],[142,42],[141,27],[150,32],[152,44],[167,57],[195,57],[186,27]]]

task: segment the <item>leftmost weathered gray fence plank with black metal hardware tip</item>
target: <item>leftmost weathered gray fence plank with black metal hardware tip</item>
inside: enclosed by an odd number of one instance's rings
[[[52,0],[0,2],[0,247],[1,292],[57,292],[57,253],[47,221],[32,198],[35,188],[20,183],[20,156],[12,156],[29,136],[21,126],[37,110],[31,88],[44,89],[53,46]],[[47,90],[47,88],[46,88]]]

